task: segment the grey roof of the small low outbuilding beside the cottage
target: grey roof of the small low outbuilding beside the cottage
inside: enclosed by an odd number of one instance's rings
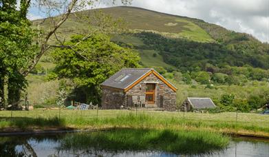
[[[193,109],[210,109],[216,107],[211,98],[188,98],[188,101],[191,103]]]

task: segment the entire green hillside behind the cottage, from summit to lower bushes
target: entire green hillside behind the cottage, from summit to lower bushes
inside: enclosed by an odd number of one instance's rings
[[[76,14],[87,15],[96,11],[126,21],[128,31],[111,34],[111,41],[138,51],[140,65],[156,67],[177,85],[180,89],[177,93],[179,103],[186,96],[206,96],[218,102],[222,94],[233,93],[237,105],[247,104],[242,110],[249,111],[269,101],[264,95],[269,88],[269,45],[250,34],[226,30],[200,19],[134,7],[86,10]],[[34,25],[40,22],[33,21]],[[61,38],[69,40],[72,34],[87,32],[88,26],[71,14],[58,32],[61,32]],[[40,27],[47,30],[49,20],[46,19]],[[55,65],[46,57],[51,58],[47,54],[39,67],[52,71]],[[55,94],[51,91],[55,91],[57,82],[42,84],[42,79],[36,79],[37,82],[29,77],[30,90],[35,87],[40,93],[47,90],[50,94],[46,98],[32,97],[52,102]]]

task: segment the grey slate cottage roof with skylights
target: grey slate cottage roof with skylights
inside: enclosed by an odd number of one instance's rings
[[[151,68],[123,68],[101,85],[124,90],[151,70]]]

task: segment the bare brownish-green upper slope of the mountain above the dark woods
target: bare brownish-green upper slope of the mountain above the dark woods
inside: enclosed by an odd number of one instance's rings
[[[100,10],[111,17],[124,19],[131,30],[151,30],[168,36],[200,42],[214,41],[205,30],[186,17],[135,7],[114,7]]]

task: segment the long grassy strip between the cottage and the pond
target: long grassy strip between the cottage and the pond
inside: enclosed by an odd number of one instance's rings
[[[60,114],[59,114],[60,113]],[[228,134],[269,137],[268,115],[239,113],[200,114],[131,110],[34,110],[1,111],[0,130],[105,129],[111,127],[211,130]]]

